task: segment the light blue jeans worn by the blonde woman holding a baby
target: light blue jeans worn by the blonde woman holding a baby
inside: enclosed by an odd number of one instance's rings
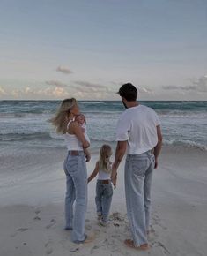
[[[65,229],[71,229],[73,242],[85,240],[85,213],[87,207],[87,171],[85,154],[68,154],[64,161],[66,174]],[[74,215],[73,203],[76,200]]]

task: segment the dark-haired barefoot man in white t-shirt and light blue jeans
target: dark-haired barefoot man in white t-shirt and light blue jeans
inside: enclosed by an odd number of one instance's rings
[[[133,239],[126,239],[124,243],[135,249],[147,250],[152,171],[158,167],[162,144],[160,122],[153,109],[137,102],[137,88],[132,84],[122,85],[118,94],[126,110],[116,128],[117,146],[111,179],[115,185],[118,166],[127,150],[124,181]]]

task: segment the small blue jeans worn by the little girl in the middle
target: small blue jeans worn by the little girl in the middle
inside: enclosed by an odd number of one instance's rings
[[[107,222],[113,196],[113,188],[111,181],[109,181],[109,184],[103,184],[102,182],[102,180],[97,180],[96,183],[96,210],[97,215],[102,215],[102,220]]]

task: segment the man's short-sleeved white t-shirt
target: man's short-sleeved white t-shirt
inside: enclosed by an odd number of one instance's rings
[[[116,140],[128,140],[128,154],[142,154],[157,145],[159,124],[158,115],[149,107],[137,105],[126,109],[116,127]]]

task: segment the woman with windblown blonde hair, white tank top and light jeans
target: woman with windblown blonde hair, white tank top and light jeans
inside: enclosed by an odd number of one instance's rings
[[[55,117],[50,121],[56,127],[56,132],[62,133],[68,148],[68,155],[64,161],[66,174],[65,196],[65,230],[72,230],[74,243],[86,242],[85,235],[85,212],[87,205],[87,173],[86,161],[90,160],[87,147],[90,141],[85,139],[83,130],[75,121],[79,115],[78,102],[76,99],[63,100]],[[73,216],[73,203],[76,200]]]

